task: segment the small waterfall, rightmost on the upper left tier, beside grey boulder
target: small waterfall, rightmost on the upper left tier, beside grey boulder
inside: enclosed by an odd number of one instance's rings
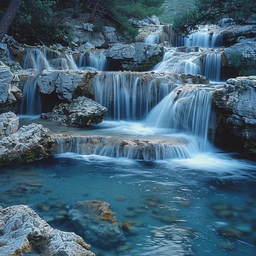
[[[106,71],[108,70],[108,60],[106,59],[105,51],[89,52],[89,57],[86,59],[84,53],[80,54],[79,69]]]

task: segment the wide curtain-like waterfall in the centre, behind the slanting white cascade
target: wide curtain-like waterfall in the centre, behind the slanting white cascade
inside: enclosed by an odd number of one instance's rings
[[[154,78],[152,74],[110,72],[96,75],[93,83],[95,100],[108,109],[107,117],[136,120],[144,118],[180,81],[176,75]]]

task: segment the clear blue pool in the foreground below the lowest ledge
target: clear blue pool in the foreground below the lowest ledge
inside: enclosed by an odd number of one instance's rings
[[[96,255],[254,255],[255,164],[223,152],[148,162],[66,153],[2,167],[0,205],[27,204],[52,227],[82,236]],[[93,199],[109,202],[119,222],[134,223],[138,234],[126,237],[126,248],[102,249],[68,217],[54,217],[60,200],[68,210]],[[138,213],[141,205],[145,211]],[[218,234],[226,226],[238,236]]]

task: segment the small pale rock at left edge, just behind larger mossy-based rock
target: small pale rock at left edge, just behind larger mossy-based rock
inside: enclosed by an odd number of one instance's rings
[[[18,131],[19,118],[12,112],[0,114],[0,140]]]

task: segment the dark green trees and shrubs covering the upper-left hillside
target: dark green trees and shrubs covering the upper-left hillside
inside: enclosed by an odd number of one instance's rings
[[[0,18],[10,2],[1,1]],[[64,35],[72,34],[72,27],[65,18],[77,18],[83,12],[88,14],[84,23],[96,23],[96,27],[102,24],[115,26],[124,36],[133,38],[138,29],[132,27],[128,19],[159,15],[163,3],[164,0],[22,0],[8,34],[46,45],[62,43]]]

